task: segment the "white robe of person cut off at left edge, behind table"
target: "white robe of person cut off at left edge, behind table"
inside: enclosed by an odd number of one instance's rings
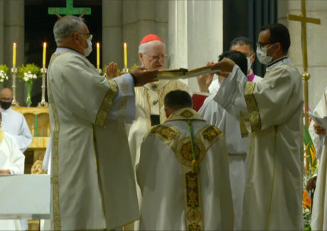
[[[0,129],[0,169],[9,169],[11,174],[23,174],[24,161],[25,156],[18,149],[14,136]],[[14,206],[15,202],[12,204]],[[21,223],[19,220],[0,220],[0,230],[21,230]]]

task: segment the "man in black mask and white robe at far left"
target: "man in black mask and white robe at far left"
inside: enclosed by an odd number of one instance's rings
[[[18,148],[24,152],[31,144],[33,136],[23,114],[11,108],[13,92],[3,88],[0,92],[0,111],[2,113],[2,129],[16,139]]]

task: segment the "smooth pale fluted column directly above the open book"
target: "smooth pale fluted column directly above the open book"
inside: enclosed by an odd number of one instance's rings
[[[217,62],[223,52],[223,0],[171,1],[169,3],[171,68],[199,68]],[[198,91],[195,78],[188,81]]]

